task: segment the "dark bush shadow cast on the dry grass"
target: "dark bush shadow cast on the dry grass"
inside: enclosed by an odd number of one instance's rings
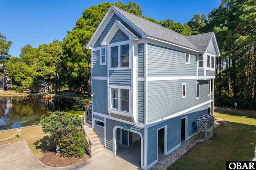
[[[34,145],[36,145],[36,149],[41,149],[42,152],[45,153],[55,151],[56,142],[51,136],[47,135],[34,142]]]

